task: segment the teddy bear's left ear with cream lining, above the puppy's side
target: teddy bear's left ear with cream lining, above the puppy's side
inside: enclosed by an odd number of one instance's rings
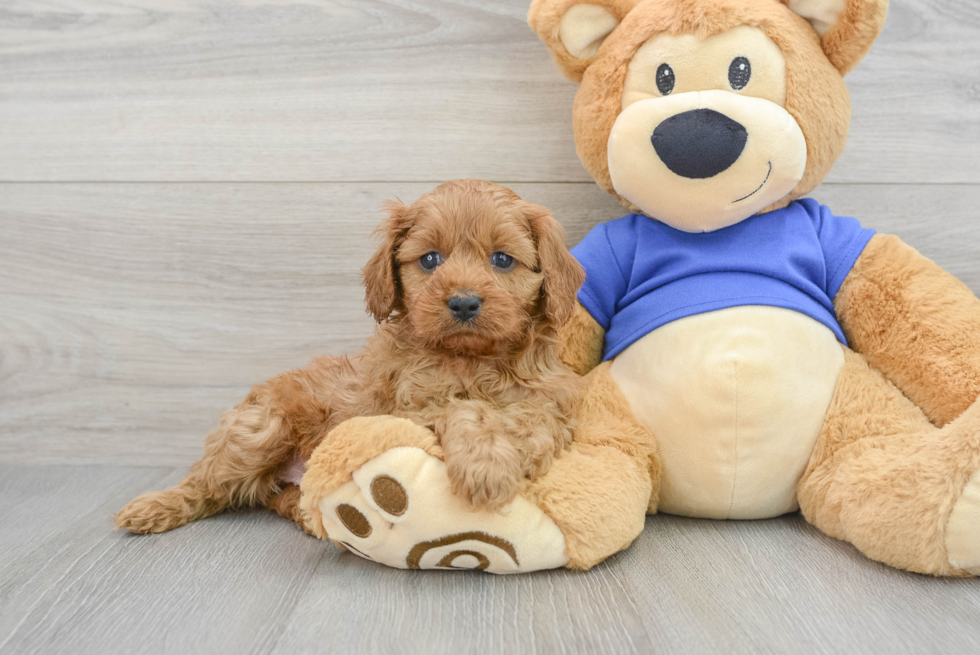
[[[527,22],[544,41],[558,68],[582,80],[599,46],[639,0],[534,0]]]

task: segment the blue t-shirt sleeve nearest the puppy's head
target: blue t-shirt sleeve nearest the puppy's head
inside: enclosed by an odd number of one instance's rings
[[[609,329],[616,303],[626,294],[626,278],[620,269],[614,245],[606,224],[597,225],[582,242],[572,248],[572,255],[585,269],[585,282],[578,300],[592,318]]]

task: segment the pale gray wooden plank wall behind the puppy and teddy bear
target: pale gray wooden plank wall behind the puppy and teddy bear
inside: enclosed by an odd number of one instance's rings
[[[183,466],[372,329],[386,198],[483,177],[621,215],[528,0],[0,4],[0,462]],[[894,0],[814,195],[980,291],[980,1]]]

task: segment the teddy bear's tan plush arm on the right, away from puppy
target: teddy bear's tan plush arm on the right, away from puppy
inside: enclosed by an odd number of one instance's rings
[[[980,396],[980,300],[898,237],[868,242],[834,305],[851,348],[936,425]]]

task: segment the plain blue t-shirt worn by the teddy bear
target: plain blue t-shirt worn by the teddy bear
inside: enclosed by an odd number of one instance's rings
[[[742,305],[801,312],[846,345],[833,298],[873,235],[809,198],[703,233],[630,214],[572,249],[578,298],[606,330],[605,359],[671,321]]]

